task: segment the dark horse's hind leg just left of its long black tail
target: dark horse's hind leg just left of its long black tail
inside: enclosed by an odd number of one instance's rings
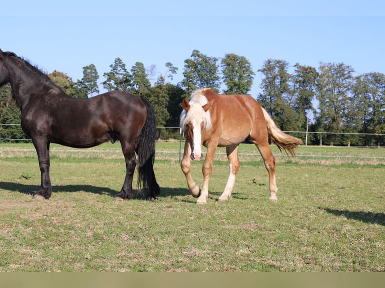
[[[122,190],[115,195],[115,198],[131,199],[133,196],[132,180],[134,178],[136,167],[135,147],[133,143],[134,141],[124,141],[122,139],[120,141],[122,144],[124,159],[126,161],[126,178],[124,180]]]

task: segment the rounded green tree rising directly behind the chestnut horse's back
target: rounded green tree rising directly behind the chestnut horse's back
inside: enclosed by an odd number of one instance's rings
[[[244,56],[226,54],[221,60],[222,80],[226,85],[225,94],[247,94],[253,84],[250,62]]]

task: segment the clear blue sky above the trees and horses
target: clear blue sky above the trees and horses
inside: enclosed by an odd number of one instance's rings
[[[250,91],[259,93],[267,59],[318,68],[320,62],[345,63],[356,75],[385,73],[383,1],[8,1],[0,11],[0,49],[30,60],[48,73],[82,78],[94,64],[103,73],[120,57],[178,67],[194,49],[221,58],[246,57],[256,73]],[[103,92],[103,91],[101,91]]]

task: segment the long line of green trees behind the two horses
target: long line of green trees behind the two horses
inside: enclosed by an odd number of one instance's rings
[[[146,98],[154,106],[158,126],[178,126],[182,99],[188,99],[195,89],[210,87],[223,94],[248,94],[255,75],[244,56],[217,58],[199,50],[184,60],[183,79],[176,84],[171,81],[178,68],[171,62],[165,64],[163,73],[155,73],[154,65],[146,69],[141,62],[128,70],[119,57],[110,68],[102,82],[93,64],[83,67],[83,77],[76,82],[56,70],[48,76],[75,98],[99,94],[99,83],[108,91],[123,90]],[[316,132],[309,134],[310,145],[385,146],[384,74],[353,76],[354,69],[344,63],[320,63],[315,68],[275,59],[264,61],[257,72],[262,74],[261,92],[251,96],[282,130]],[[9,85],[0,89],[0,123],[20,123],[20,110]],[[2,125],[0,129],[0,138],[25,137],[16,126]],[[159,133],[163,138],[175,136],[166,129]],[[304,139],[305,134],[295,136]]]

